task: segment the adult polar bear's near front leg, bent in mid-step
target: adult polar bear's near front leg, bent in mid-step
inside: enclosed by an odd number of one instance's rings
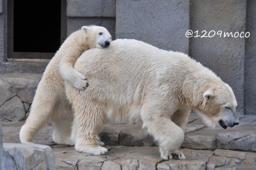
[[[184,131],[172,122],[169,116],[151,113],[150,110],[154,109],[147,109],[148,112],[145,109],[141,110],[143,128],[146,128],[159,143],[161,157],[169,160],[174,155],[174,158],[185,159],[182,152],[178,151],[185,138]]]

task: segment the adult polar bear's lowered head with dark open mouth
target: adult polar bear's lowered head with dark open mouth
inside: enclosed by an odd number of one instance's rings
[[[202,102],[195,110],[209,127],[220,124],[223,129],[232,128],[239,124],[236,98],[228,84],[220,84],[202,92]]]

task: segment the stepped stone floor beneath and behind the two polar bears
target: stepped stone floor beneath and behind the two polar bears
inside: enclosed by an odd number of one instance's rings
[[[1,122],[4,143],[20,143],[24,123]],[[240,118],[239,125],[226,130],[210,129],[191,114],[181,151],[185,160],[164,161],[157,143],[137,124],[106,124],[101,139],[107,155],[92,156],[74,147],[55,145],[52,126],[47,124],[34,138],[35,143],[51,146],[57,169],[256,169],[256,116]]]

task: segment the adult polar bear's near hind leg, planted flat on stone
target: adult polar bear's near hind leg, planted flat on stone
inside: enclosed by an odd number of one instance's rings
[[[75,138],[75,149],[93,155],[104,155],[108,152],[101,147],[99,133],[105,123],[106,115],[97,102],[74,104],[75,120],[71,138]],[[76,134],[75,134],[76,133]]]

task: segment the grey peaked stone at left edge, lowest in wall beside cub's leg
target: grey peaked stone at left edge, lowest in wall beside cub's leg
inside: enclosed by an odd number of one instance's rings
[[[7,100],[0,107],[1,121],[20,121],[25,118],[25,113],[25,108],[21,100],[17,96],[14,96],[13,98]]]

